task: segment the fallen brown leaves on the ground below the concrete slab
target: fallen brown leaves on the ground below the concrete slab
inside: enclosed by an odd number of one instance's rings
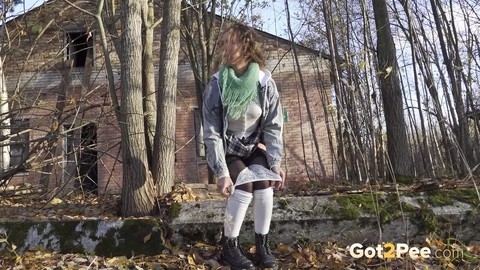
[[[438,240],[436,240],[438,241]],[[440,243],[436,243],[440,244]],[[469,247],[475,261],[448,258],[435,260],[353,259],[346,248],[333,243],[278,244],[273,252],[279,269],[478,269],[480,247]],[[474,252],[472,252],[475,249]],[[253,255],[254,247],[246,247]],[[58,254],[48,251],[27,252],[22,256],[0,259],[0,269],[228,269],[218,262],[215,246],[198,243],[195,246],[166,248],[157,256],[133,258],[103,258],[85,254]]]

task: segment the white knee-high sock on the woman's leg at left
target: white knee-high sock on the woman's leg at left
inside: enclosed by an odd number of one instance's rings
[[[238,237],[252,198],[252,193],[240,189],[236,189],[233,195],[228,198],[224,223],[226,237]]]

